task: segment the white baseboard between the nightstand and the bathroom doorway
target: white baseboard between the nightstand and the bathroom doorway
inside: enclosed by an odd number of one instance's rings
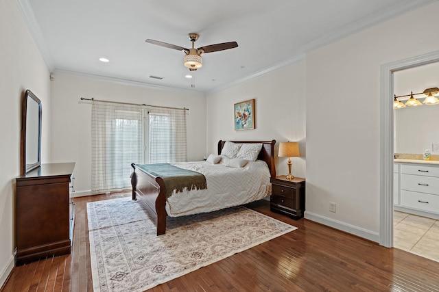
[[[375,241],[379,243],[379,233],[372,232],[370,230],[359,228],[358,226],[353,226],[351,224],[346,224],[344,222],[340,222],[337,220],[333,220],[328,217],[324,217],[322,215],[318,215],[315,213],[311,213],[309,211],[305,211],[305,219],[311,220],[314,222],[318,222],[320,224],[342,230],[346,233],[351,233],[353,235],[357,235],[358,237],[363,237],[364,239],[368,239],[370,241]]]

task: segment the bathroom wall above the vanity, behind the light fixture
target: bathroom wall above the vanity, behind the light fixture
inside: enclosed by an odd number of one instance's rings
[[[397,96],[439,88],[439,63],[427,64],[394,72],[394,92]],[[420,102],[423,94],[416,95]],[[407,99],[407,98],[406,98]],[[403,101],[403,98],[399,98]],[[422,105],[394,109],[394,152],[422,154],[425,149],[434,152],[431,144],[439,144],[439,105]]]

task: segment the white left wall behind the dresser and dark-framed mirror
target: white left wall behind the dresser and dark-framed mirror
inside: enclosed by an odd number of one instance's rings
[[[20,175],[21,101],[32,90],[43,107],[42,158],[48,161],[49,70],[14,0],[0,1],[0,287],[14,266],[15,178]]]

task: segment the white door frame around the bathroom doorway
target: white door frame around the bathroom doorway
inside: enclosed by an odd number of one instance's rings
[[[439,51],[381,65],[379,244],[393,247],[393,72],[439,62]]]

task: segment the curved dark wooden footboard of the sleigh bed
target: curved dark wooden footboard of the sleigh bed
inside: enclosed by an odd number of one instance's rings
[[[132,200],[139,200],[157,226],[157,235],[166,232],[166,187],[163,179],[145,173],[132,163]]]

